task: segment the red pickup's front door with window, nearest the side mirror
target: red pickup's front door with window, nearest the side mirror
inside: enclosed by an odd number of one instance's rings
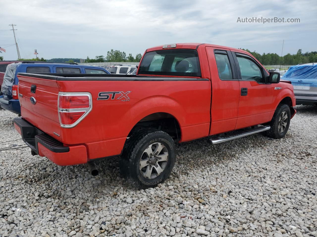
[[[262,66],[252,57],[232,51],[240,82],[236,129],[269,121],[272,110],[272,85],[266,84]]]

